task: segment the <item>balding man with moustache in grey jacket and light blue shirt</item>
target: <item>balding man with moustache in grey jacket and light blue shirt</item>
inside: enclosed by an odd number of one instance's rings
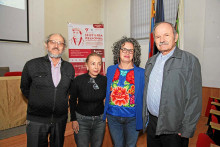
[[[176,47],[172,24],[154,27],[160,51],[145,66],[143,126],[148,147],[187,147],[202,108],[202,79],[198,59]]]

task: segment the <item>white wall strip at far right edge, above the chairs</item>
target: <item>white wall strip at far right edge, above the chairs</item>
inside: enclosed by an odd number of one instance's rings
[[[220,88],[220,1],[206,0],[203,86]]]

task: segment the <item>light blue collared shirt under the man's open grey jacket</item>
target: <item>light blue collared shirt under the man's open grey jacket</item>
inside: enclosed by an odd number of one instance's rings
[[[173,55],[174,50],[175,49],[173,49],[167,55],[163,55],[162,53],[158,55],[156,59],[156,63],[149,77],[147,100],[146,100],[147,108],[152,115],[157,117],[159,115],[164,64],[168,60],[168,58]]]

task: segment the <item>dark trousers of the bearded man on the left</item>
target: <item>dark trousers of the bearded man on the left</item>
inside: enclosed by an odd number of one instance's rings
[[[27,121],[27,147],[48,147],[48,137],[50,147],[62,147],[66,122],[66,119],[50,124]]]

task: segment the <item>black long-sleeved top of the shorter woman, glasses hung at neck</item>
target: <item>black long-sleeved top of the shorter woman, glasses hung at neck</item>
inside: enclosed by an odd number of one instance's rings
[[[107,78],[98,75],[94,78],[99,89],[93,88],[94,83],[89,82],[91,76],[86,73],[77,76],[70,88],[71,121],[76,120],[75,111],[85,116],[98,116],[104,112]],[[78,100],[78,103],[77,103]]]

